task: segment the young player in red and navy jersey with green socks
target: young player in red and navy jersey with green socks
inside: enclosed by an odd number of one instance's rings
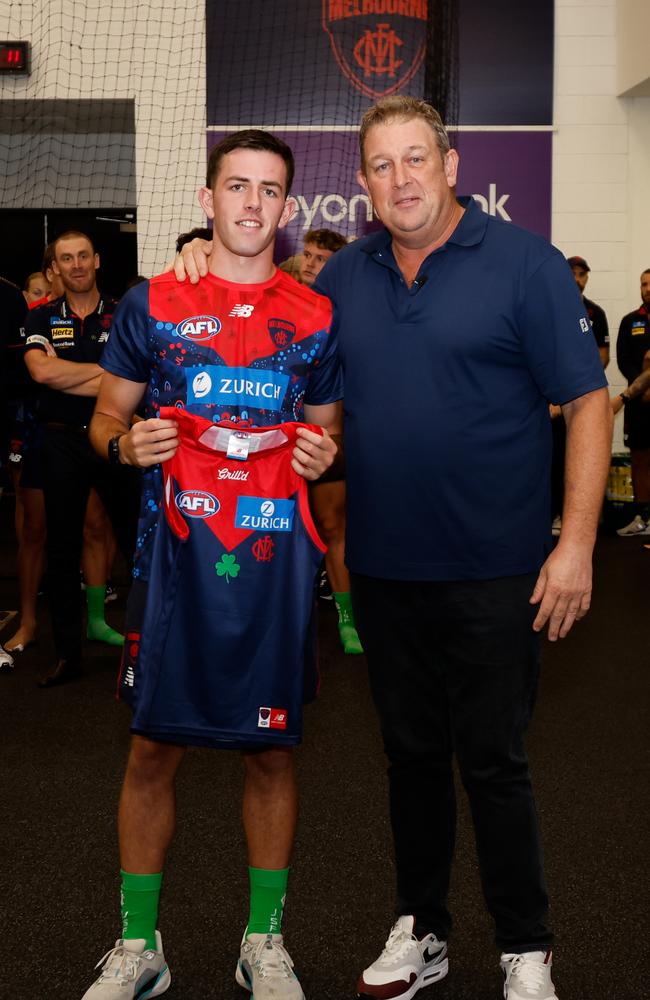
[[[111,350],[102,358],[93,444],[109,461],[144,470],[120,683],[136,710],[146,681],[136,655],[139,620],[147,589],[153,593],[164,582],[153,576],[147,582],[163,502],[160,463],[171,459],[179,444],[176,421],[158,418],[160,408],[180,407],[234,427],[296,420],[320,425],[322,434],[298,429],[291,458],[295,472],[308,480],[319,478],[336,454],[325,429],[338,426],[342,396],[329,337],[331,306],[273,264],[276,231],[295,211],[288,198],[292,177],[291,150],[269,133],[249,129],[222,140],[199,192],[214,226],[209,273],[198,285],[178,284],[170,273],[133,288],[120,305]],[[141,404],[146,419],[130,427]],[[188,637],[194,626],[188,622]],[[200,663],[194,668],[200,670]],[[85,1000],[155,997],[170,984],[156,929],[158,897],[175,822],[176,770],[186,745],[197,742],[191,729],[188,725],[186,735],[176,734],[173,742],[146,726],[134,732],[119,810],[122,936]],[[281,934],[297,791],[292,747],[277,733],[262,729],[254,746],[245,733],[241,740],[215,739],[210,745],[239,747],[245,766],[251,895],[237,981],[255,1000],[303,1000]]]

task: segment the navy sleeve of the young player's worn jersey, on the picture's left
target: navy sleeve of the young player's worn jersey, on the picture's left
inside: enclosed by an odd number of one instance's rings
[[[130,382],[148,382],[151,375],[149,282],[131,288],[115,310],[111,333],[100,364],[105,371]]]

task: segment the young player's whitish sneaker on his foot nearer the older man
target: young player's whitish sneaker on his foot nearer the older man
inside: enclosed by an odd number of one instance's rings
[[[281,934],[244,934],[235,979],[251,1000],[305,1000]]]

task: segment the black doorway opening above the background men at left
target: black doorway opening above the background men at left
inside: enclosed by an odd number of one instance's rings
[[[68,229],[87,233],[100,258],[97,275],[103,292],[119,298],[137,274],[136,211],[127,209],[49,209],[0,211],[0,276],[22,288],[40,270],[48,242]]]

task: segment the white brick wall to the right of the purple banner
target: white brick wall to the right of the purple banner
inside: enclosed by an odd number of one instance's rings
[[[592,268],[587,295],[609,320],[614,392],[625,385],[618,325],[639,305],[639,275],[650,267],[650,98],[616,96],[615,0],[556,0],[555,11],[553,242]],[[645,21],[639,30],[647,45]],[[621,448],[619,417],[614,450]]]

